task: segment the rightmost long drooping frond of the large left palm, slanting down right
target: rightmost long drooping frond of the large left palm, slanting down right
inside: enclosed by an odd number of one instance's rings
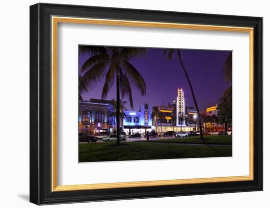
[[[127,60],[123,60],[122,63],[122,69],[126,72],[130,82],[141,92],[141,95],[144,96],[146,94],[146,84],[142,75]]]

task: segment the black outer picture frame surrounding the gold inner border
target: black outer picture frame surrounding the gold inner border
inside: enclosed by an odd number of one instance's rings
[[[254,28],[254,180],[52,192],[51,16]],[[37,3],[30,6],[30,202],[37,205],[263,190],[263,18]]]

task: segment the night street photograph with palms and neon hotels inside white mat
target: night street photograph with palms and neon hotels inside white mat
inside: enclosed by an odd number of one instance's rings
[[[79,162],[232,157],[233,51],[78,47]]]

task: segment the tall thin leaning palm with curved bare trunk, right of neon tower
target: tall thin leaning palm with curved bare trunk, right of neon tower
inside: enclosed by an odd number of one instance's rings
[[[172,57],[173,57],[174,52],[176,52],[177,55],[178,55],[178,59],[180,61],[180,64],[182,66],[182,69],[183,69],[183,71],[185,73],[185,76],[186,76],[186,78],[188,80],[189,88],[190,88],[191,95],[192,95],[192,98],[193,98],[193,102],[194,102],[195,108],[197,110],[197,115],[198,115],[198,118],[199,118],[199,125],[200,125],[200,139],[203,139],[201,115],[200,115],[199,107],[198,107],[198,104],[197,104],[197,101],[196,101],[196,98],[195,98],[195,95],[194,95],[194,91],[193,91],[191,82],[189,80],[189,75],[188,75],[187,70],[185,69],[184,64],[182,62],[182,59],[181,59],[181,51],[180,51],[180,49],[165,49],[164,50],[164,55],[167,52],[168,52],[167,57],[168,57],[169,60],[172,60]]]

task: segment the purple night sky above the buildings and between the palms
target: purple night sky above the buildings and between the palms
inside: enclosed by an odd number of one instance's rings
[[[181,49],[182,61],[189,74],[200,110],[216,105],[229,86],[222,74],[223,64],[228,54],[229,51]],[[79,57],[80,69],[89,57],[90,54]],[[185,92],[186,104],[194,106],[188,81],[176,54],[171,61],[168,61],[163,55],[162,48],[147,48],[145,56],[137,56],[130,62],[143,76],[146,83],[146,96],[141,96],[133,88],[135,111],[139,110],[139,106],[144,102],[149,103],[149,107],[162,105],[162,103],[167,105],[176,98],[178,87],[182,87]],[[83,99],[101,99],[104,81],[105,79],[94,90],[83,94]],[[115,83],[108,93],[108,100],[116,99]],[[122,100],[127,101],[126,107],[131,110],[128,99],[125,97]]]

